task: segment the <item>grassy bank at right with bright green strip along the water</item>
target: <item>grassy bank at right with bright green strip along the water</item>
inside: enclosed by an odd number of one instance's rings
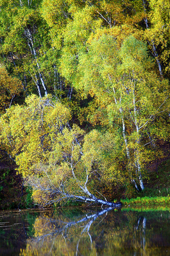
[[[145,189],[133,198],[122,199],[124,207],[142,208],[170,208],[170,158],[150,166],[149,178],[145,181]]]

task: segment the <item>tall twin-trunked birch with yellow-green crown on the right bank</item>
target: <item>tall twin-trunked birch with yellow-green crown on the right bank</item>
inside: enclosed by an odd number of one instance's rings
[[[105,104],[110,122],[121,125],[128,161],[129,179],[136,189],[144,189],[142,172],[145,144],[151,144],[150,124],[167,108],[168,83],[153,70],[146,46],[134,37],[117,49],[116,39],[106,34],[94,38],[82,55],[76,87],[93,90]],[[159,88],[162,88],[159,90]]]

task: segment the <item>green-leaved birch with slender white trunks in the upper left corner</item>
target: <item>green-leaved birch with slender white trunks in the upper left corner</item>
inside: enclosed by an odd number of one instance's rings
[[[8,68],[22,81],[24,90],[34,91],[34,83],[42,97],[48,92],[40,52],[48,45],[45,44],[48,29],[38,11],[40,4],[40,0],[0,1],[0,53]]]

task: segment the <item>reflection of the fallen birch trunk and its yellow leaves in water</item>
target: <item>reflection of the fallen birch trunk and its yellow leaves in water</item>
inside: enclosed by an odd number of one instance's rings
[[[83,217],[76,218],[75,221],[66,221],[65,217],[62,216],[63,221],[61,221],[60,218],[49,218],[48,214],[44,215],[43,217],[37,218],[37,224],[34,224],[35,230],[36,230],[36,237],[33,239],[28,240],[28,244],[30,241],[31,248],[29,248],[30,255],[34,255],[34,250],[38,248],[38,254],[41,255],[40,252],[43,251],[43,255],[85,255],[82,254],[82,243],[80,244],[80,241],[83,242],[83,250],[87,247],[87,242],[90,239],[90,246],[88,246],[88,254],[86,255],[97,255],[97,250],[95,249],[95,253],[93,254],[93,237],[95,239],[95,236],[92,236],[90,234],[91,232],[94,234],[94,227],[95,227],[95,221],[97,221],[97,218],[102,216],[102,218],[99,219],[98,225],[103,221],[103,219],[107,216],[107,212],[113,210],[113,208],[107,208],[104,210],[100,210],[98,212],[95,212],[94,214],[84,214]],[[63,218],[64,217],[64,218]],[[75,219],[75,217],[73,218]],[[39,225],[40,224],[40,225]],[[92,226],[92,224],[94,224]],[[97,225],[97,229],[98,226]],[[92,227],[91,227],[92,226]],[[88,236],[87,236],[88,235]],[[86,240],[88,238],[88,240]],[[58,246],[60,248],[61,244],[60,241],[64,240],[64,250],[62,246],[62,252],[63,253],[57,253],[54,251],[55,247]],[[48,244],[48,243],[50,244]],[[72,250],[69,250],[69,247],[72,247]],[[47,245],[45,247],[45,245]],[[89,245],[89,244],[88,244]],[[95,246],[96,247],[96,246]],[[53,248],[53,251],[52,251]],[[45,250],[45,253],[44,253]],[[80,251],[79,251],[80,250]],[[85,252],[85,250],[84,250]],[[66,253],[66,254],[65,254]],[[25,254],[27,255],[27,254]]]

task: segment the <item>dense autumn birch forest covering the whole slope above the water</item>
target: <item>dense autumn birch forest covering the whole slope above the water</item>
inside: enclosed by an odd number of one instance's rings
[[[169,29],[168,0],[0,0],[1,208],[169,195]]]

